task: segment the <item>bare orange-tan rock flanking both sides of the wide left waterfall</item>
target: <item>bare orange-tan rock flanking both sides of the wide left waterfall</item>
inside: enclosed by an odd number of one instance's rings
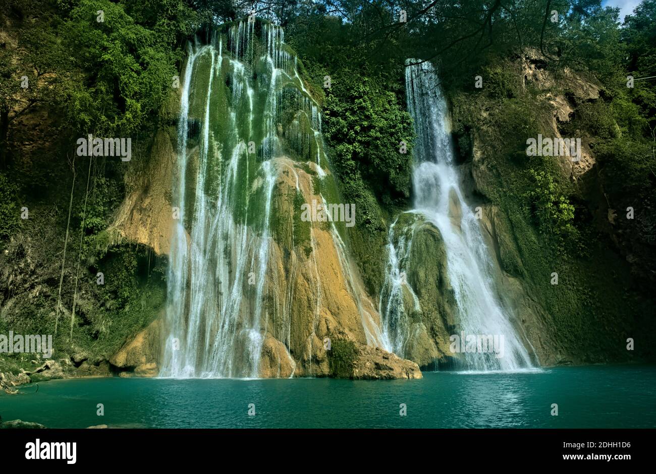
[[[171,189],[176,160],[168,132],[158,132],[148,172],[125,199],[112,226],[121,237],[149,245],[159,254],[170,250]],[[327,376],[325,340],[347,338],[358,344],[382,345],[380,315],[363,289],[358,270],[344,245],[343,222],[301,220],[301,205],[338,203],[331,174],[314,162],[289,157],[272,159],[277,179],[272,197],[268,247],[263,340],[258,372],[262,377]],[[193,174],[194,170],[190,170]],[[261,184],[255,182],[254,192]],[[342,235],[340,235],[340,233]],[[253,235],[253,239],[259,239]],[[252,294],[245,285],[243,294]],[[161,358],[161,338],[168,334],[164,318],[137,334],[110,363],[121,376],[155,376]],[[83,359],[77,357],[74,363]],[[84,364],[84,363],[82,363]]]

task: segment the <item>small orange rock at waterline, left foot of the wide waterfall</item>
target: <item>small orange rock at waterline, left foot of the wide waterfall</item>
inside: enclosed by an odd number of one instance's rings
[[[157,376],[157,362],[161,353],[160,333],[161,320],[157,319],[139,332],[133,340],[121,347],[112,356],[110,363],[124,370],[124,372],[119,372],[121,376]],[[132,372],[125,372],[127,370]]]

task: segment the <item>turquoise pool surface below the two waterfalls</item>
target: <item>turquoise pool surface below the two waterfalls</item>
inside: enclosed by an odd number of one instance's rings
[[[424,372],[422,380],[87,378],[34,390],[0,395],[3,420],[55,428],[656,427],[656,366]]]

